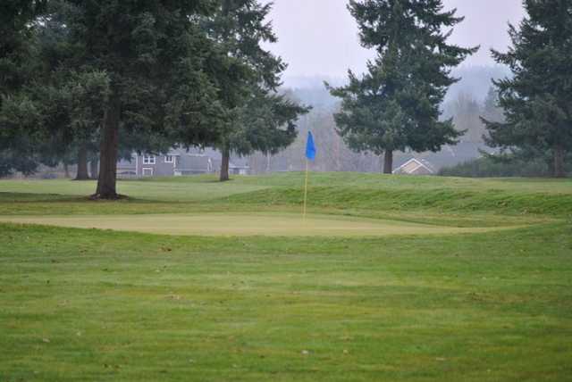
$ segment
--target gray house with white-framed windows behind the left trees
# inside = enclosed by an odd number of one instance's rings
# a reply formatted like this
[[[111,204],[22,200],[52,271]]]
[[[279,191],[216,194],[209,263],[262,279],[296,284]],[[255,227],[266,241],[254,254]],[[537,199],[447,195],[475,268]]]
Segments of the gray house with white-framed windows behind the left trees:
[[[220,170],[221,154],[213,149],[173,149],[167,154],[132,154],[117,163],[117,177],[181,177]],[[231,174],[248,175],[248,161],[231,159]]]

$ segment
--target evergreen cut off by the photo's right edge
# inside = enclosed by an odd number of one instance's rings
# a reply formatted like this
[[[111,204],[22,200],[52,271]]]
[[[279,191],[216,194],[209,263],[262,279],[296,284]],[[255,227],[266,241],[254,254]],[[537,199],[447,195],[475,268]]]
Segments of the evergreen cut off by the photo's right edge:
[[[509,51],[492,51],[513,77],[493,81],[506,121],[485,120],[489,141],[520,154],[550,153],[553,175],[564,177],[572,150],[572,4],[526,0],[525,8],[520,28],[509,25]]]

